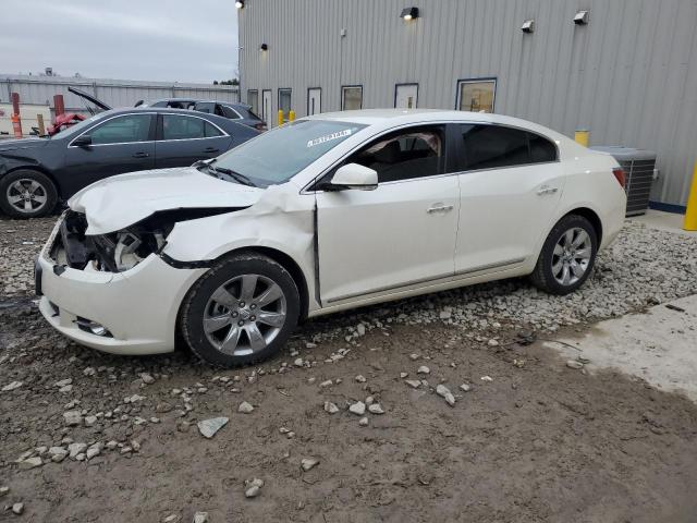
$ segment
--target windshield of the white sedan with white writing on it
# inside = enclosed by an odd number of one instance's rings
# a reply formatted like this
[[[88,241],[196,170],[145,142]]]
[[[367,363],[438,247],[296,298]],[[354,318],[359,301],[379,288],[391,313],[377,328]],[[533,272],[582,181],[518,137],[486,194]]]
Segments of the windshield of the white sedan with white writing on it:
[[[268,131],[213,160],[216,169],[240,173],[267,187],[288,182],[365,125],[298,120]]]

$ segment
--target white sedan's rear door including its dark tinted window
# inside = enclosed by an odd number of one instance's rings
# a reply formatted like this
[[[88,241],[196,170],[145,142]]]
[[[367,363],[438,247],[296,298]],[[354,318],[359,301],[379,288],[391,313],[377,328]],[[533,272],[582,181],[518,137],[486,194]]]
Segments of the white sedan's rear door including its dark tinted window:
[[[463,139],[468,162],[463,167],[472,170],[458,175],[455,273],[503,270],[536,257],[564,188],[557,147],[521,130],[462,129],[475,133]],[[527,136],[536,136],[536,143],[528,146]]]

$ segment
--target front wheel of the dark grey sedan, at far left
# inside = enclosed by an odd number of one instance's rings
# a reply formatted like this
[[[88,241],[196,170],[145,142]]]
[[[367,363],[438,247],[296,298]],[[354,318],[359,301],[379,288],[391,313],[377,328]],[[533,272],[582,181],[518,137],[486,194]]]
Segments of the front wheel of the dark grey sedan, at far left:
[[[0,179],[0,208],[13,218],[36,218],[53,210],[53,182],[37,171],[19,170]]]

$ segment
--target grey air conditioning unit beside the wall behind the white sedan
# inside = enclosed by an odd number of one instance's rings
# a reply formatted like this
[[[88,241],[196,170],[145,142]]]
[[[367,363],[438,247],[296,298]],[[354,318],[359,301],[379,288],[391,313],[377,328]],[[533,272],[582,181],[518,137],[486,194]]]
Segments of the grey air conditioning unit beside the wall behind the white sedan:
[[[624,170],[626,180],[624,190],[627,193],[626,216],[645,215],[656,178],[656,153],[617,146],[591,147],[591,149],[612,155]]]

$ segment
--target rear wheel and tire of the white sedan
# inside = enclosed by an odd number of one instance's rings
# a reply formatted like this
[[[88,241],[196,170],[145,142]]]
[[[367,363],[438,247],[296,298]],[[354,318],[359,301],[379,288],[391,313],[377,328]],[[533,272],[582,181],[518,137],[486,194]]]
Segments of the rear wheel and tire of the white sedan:
[[[597,252],[598,234],[590,221],[566,215],[547,236],[530,280],[550,294],[574,292],[590,276]]]

